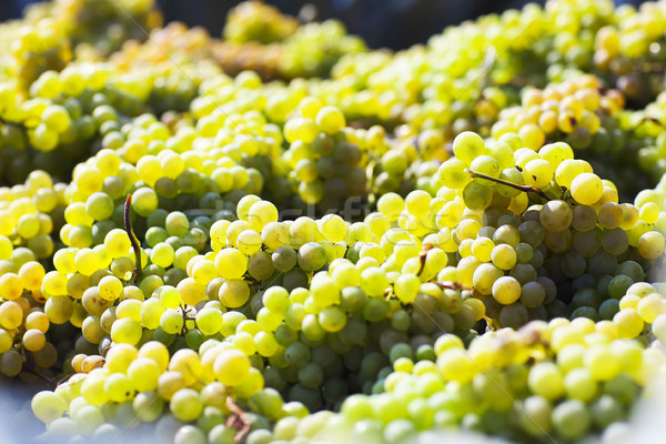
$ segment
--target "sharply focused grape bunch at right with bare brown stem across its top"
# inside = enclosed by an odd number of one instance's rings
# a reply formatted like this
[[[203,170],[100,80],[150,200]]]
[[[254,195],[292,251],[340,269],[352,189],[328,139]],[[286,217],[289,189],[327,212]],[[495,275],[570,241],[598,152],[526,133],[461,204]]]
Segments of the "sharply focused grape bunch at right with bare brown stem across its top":
[[[440,168],[444,185],[462,190],[465,203],[458,206],[456,224],[437,233],[455,240],[451,250],[457,253],[461,282],[493,296],[484,300],[486,314],[502,325],[517,327],[528,319],[549,317],[565,310],[569,297],[574,316],[612,317],[613,310],[601,315],[597,309],[614,276],[630,276],[630,284],[660,265],[650,262],[664,251],[664,235],[654,229],[657,209],[617,203],[613,183],[574,160],[565,143],[509,154],[506,142],[512,138],[486,147],[476,134],[462,133],[454,141],[455,158]],[[470,155],[473,152],[477,154]],[[516,167],[502,170],[501,152]],[[482,174],[472,179],[475,173]],[[454,203],[444,203],[443,219],[452,218]],[[467,210],[484,210],[484,218],[465,218]],[[629,255],[632,248],[637,256]],[[537,270],[547,274],[537,280]],[[594,285],[595,291],[581,291]]]

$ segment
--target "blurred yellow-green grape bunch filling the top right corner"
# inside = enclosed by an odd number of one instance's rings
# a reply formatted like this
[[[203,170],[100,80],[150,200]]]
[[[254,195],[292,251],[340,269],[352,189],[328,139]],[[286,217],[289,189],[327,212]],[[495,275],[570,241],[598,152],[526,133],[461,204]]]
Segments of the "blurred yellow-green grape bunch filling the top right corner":
[[[513,11],[506,16],[519,20]],[[553,1],[531,26],[537,30],[531,29],[507,46],[509,63],[501,60],[493,72],[500,82],[539,85],[544,80],[563,80],[571,70],[591,72],[637,107],[664,88],[663,2],[616,9],[612,1]]]

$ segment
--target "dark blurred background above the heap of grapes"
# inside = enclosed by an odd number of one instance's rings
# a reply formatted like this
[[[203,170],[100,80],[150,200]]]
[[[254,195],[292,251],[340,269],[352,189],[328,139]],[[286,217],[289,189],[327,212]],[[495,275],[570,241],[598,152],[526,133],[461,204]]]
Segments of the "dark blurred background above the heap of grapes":
[[[0,0],[0,20],[18,18],[22,9],[37,0]],[[114,0],[99,0],[114,1]],[[361,36],[371,48],[407,48],[478,16],[521,8],[527,0],[266,0],[281,11],[297,16],[305,4],[314,4],[316,20],[342,20],[350,33]],[[534,1],[533,1],[534,2]],[[544,0],[536,1],[544,3]],[[618,0],[616,3],[642,3],[643,0]],[[182,21],[203,26],[220,36],[230,8],[239,0],[158,0],[165,22]]]

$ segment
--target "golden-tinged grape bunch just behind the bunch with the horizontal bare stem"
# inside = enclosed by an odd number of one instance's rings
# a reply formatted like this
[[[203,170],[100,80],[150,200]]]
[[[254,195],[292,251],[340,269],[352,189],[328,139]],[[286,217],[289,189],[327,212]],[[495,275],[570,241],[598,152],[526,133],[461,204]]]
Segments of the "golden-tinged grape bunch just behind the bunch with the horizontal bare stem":
[[[517,132],[528,147],[565,140],[599,175],[620,184],[620,198],[629,201],[650,182],[635,174],[638,145],[625,122],[624,101],[617,90],[603,91],[598,78],[575,74],[544,90],[526,89],[522,105],[502,110],[492,133]]]

